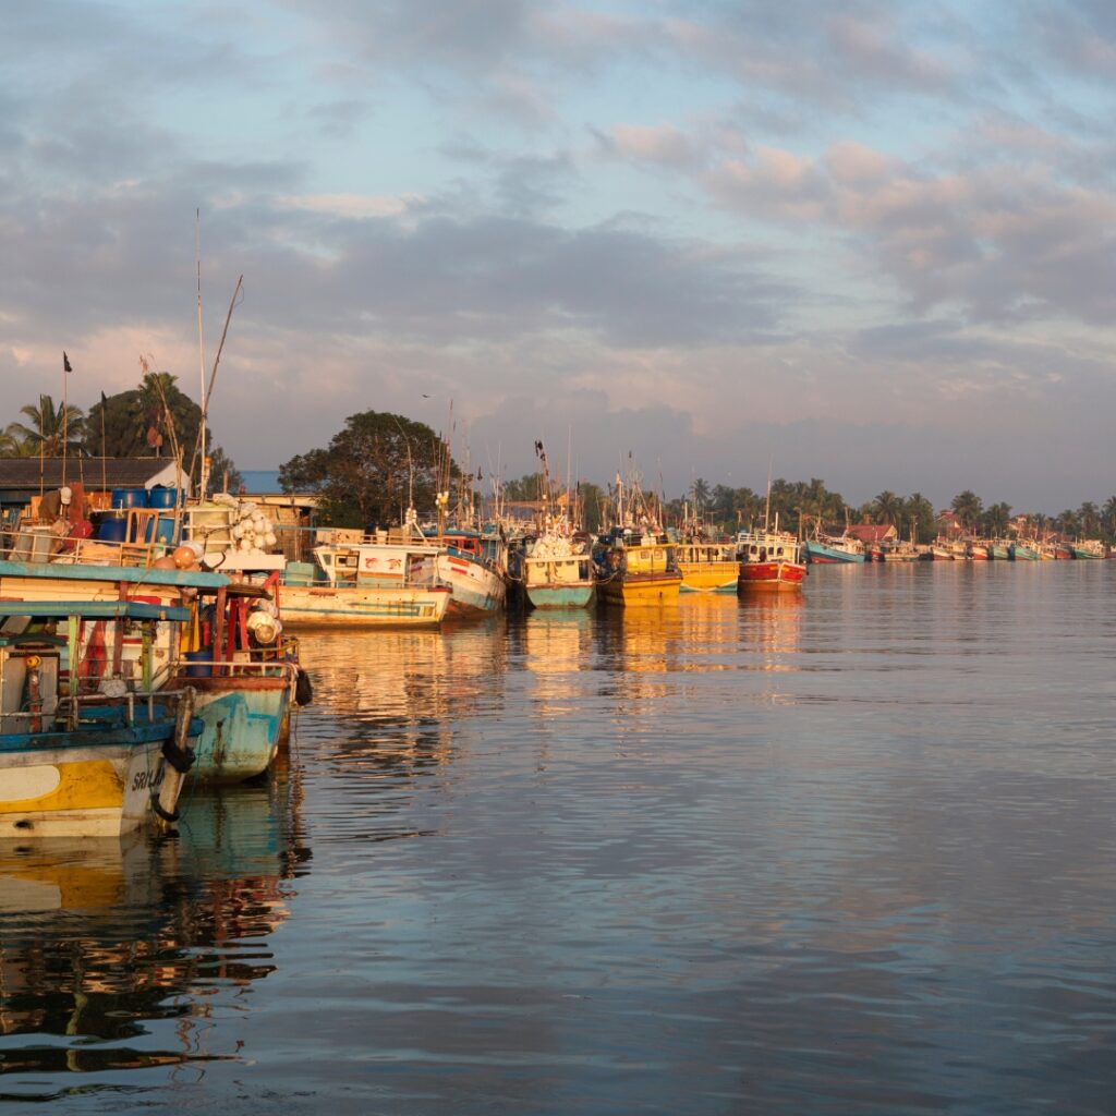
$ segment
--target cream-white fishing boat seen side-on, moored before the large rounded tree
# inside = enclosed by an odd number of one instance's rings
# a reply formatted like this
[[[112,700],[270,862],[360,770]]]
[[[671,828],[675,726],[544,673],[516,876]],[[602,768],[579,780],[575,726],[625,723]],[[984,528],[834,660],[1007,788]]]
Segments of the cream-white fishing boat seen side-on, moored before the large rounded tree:
[[[319,538],[323,532],[318,532]],[[451,590],[441,584],[440,548],[389,545],[355,532],[314,547],[312,562],[288,562],[278,586],[287,627],[437,627]],[[328,538],[328,536],[327,536]]]

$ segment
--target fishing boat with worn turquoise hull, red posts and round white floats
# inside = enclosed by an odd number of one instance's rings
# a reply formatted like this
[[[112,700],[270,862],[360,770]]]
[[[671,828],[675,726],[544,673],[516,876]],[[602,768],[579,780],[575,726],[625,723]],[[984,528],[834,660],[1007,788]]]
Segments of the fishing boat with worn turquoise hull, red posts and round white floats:
[[[263,585],[232,583],[199,594],[189,627],[190,650],[172,685],[196,691],[202,732],[194,745],[191,778],[240,782],[262,775],[282,743],[290,706],[300,696],[297,645]],[[305,694],[304,680],[301,696]],[[301,702],[305,704],[305,701]]]

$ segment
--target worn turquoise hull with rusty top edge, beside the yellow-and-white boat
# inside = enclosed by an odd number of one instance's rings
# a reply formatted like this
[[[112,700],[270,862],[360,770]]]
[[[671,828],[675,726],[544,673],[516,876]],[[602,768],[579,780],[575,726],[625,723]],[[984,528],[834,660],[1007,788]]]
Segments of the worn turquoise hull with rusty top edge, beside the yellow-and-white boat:
[[[180,682],[198,691],[194,715],[204,725],[193,745],[190,778],[241,782],[262,775],[275,759],[287,722],[287,679],[218,676]]]

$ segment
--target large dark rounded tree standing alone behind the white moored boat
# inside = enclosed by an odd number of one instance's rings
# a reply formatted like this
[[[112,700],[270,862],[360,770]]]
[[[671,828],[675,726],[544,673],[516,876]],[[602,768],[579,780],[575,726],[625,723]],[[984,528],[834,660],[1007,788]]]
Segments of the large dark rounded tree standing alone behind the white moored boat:
[[[285,492],[317,492],[321,518],[336,527],[401,522],[408,501],[420,516],[435,512],[445,454],[445,443],[425,423],[364,411],[349,415],[326,449],[285,462],[279,483]]]

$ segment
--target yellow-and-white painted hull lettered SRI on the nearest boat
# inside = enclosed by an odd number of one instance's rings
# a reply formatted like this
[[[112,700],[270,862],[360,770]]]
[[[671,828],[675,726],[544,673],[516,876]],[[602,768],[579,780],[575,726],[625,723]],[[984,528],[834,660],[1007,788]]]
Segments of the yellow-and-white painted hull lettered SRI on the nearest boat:
[[[171,721],[162,739],[0,753],[0,838],[116,837],[153,821],[173,732]]]

